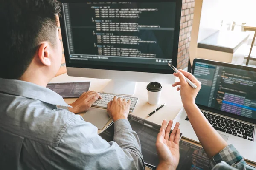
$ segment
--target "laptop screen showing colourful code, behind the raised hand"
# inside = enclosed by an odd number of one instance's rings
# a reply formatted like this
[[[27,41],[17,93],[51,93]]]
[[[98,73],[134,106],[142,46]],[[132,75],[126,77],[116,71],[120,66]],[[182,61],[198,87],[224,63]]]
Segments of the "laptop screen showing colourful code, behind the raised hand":
[[[202,84],[197,105],[256,119],[256,69],[195,59],[192,74]]]

